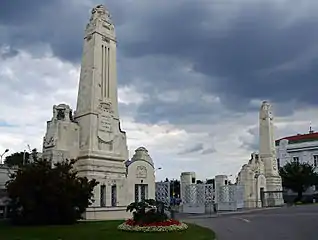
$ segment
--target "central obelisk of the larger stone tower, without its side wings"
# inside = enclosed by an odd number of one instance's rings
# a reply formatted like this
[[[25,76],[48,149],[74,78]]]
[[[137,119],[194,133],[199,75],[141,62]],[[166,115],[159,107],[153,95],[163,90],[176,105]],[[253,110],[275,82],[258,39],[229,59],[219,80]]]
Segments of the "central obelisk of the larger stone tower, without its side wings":
[[[118,116],[116,71],[115,28],[109,12],[98,5],[92,9],[85,30],[74,120],[81,129],[78,173],[100,182],[100,191],[97,187],[94,196],[104,200],[94,204],[104,207],[126,205],[128,150]],[[117,199],[110,200],[114,195]]]

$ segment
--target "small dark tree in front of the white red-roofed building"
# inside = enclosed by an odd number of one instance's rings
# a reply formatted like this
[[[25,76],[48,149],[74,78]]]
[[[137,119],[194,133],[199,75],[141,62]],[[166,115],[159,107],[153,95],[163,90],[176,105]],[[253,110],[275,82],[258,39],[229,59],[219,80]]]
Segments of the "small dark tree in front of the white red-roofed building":
[[[288,162],[279,169],[279,174],[282,177],[283,187],[297,193],[295,201],[301,201],[303,192],[317,181],[315,167],[309,163]]]

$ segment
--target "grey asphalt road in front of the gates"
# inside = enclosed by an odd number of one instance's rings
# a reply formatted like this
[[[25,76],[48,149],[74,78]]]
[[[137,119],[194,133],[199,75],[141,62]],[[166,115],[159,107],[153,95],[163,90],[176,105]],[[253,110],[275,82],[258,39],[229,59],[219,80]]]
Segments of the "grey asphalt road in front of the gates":
[[[218,240],[317,240],[318,205],[283,207],[185,221],[211,228]]]

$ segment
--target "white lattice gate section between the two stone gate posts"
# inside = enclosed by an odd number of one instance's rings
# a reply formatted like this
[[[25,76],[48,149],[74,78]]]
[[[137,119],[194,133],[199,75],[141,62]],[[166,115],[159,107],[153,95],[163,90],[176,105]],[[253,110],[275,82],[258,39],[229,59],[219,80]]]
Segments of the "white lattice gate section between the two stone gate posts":
[[[207,213],[213,211],[213,184],[185,184],[182,186],[184,213]]]

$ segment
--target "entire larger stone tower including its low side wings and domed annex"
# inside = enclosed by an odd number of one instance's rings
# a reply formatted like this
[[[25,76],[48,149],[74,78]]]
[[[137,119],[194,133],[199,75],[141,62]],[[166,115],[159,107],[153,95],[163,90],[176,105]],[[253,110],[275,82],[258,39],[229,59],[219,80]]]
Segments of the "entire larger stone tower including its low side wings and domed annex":
[[[148,151],[138,148],[127,164],[116,75],[115,28],[109,12],[98,5],[85,30],[77,109],[73,114],[66,104],[54,105],[43,138],[43,158],[52,163],[76,159],[78,175],[99,182],[85,219],[131,218],[126,212],[129,203],[155,196],[154,164]]]

